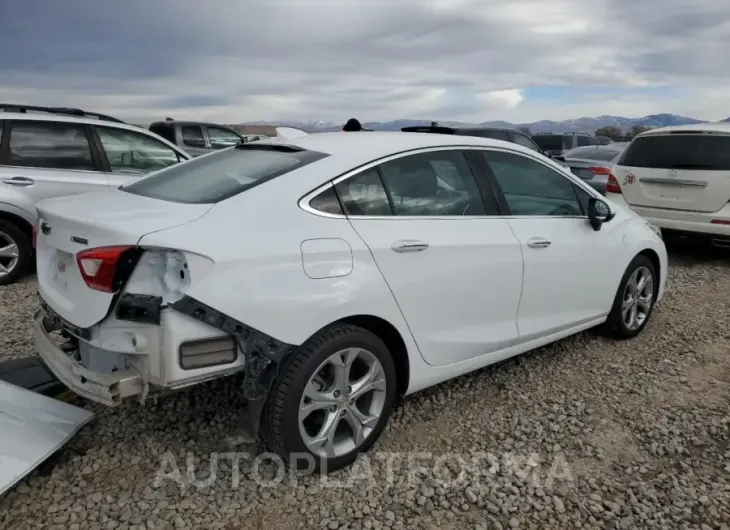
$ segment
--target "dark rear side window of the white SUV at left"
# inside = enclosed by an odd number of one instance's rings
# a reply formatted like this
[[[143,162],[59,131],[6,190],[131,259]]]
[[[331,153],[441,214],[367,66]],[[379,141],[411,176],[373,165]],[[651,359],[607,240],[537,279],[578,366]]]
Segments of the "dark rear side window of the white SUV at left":
[[[94,169],[85,129],[72,123],[16,122],[9,148],[11,166]]]

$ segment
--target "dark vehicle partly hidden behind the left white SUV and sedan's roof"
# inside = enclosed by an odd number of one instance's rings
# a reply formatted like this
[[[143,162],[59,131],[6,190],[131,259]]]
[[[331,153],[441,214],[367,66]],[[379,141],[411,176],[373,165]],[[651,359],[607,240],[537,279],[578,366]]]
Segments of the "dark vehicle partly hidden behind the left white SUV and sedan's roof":
[[[185,149],[192,156],[204,155],[246,141],[241,134],[224,125],[171,118],[154,122],[150,125],[150,131]]]

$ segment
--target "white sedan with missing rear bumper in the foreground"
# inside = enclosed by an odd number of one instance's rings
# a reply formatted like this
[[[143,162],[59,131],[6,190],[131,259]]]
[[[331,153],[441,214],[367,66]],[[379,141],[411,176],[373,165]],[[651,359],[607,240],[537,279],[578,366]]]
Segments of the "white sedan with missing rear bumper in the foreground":
[[[34,335],[62,382],[116,406],[243,372],[244,432],[325,471],[399,396],[594,326],[636,336],[667,275],[645,220],[478,137],[261,140],[38,209]]]

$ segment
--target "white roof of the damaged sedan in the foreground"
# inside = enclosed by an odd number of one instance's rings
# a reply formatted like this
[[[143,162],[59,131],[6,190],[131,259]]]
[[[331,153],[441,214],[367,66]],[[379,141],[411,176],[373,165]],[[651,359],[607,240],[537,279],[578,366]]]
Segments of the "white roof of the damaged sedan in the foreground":
[[[286,144],[327,153],[333,157],[348,159],[353,162],[353,167],[389,155],[428,147],[500,147],[529,155],[535,154],[527,147],[492,138],[400,131],[315,133],[289,140],[282,138],[260,140],[258,143]]]

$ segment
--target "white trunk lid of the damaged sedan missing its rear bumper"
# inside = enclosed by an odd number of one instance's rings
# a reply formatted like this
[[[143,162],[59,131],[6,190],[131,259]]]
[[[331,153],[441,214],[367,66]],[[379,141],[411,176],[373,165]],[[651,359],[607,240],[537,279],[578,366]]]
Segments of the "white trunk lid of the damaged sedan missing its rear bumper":
[[[211,207],[121,190],[41,201],[36,243],[41,298],[71,324],[93,326],[106,316],[114,293],[91,289],[81,275],[76,255],[92,248],[136,245],[143,236],[194,221]]]

